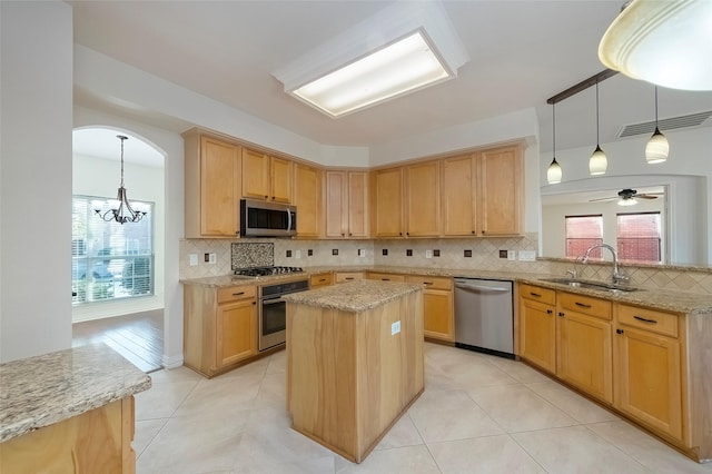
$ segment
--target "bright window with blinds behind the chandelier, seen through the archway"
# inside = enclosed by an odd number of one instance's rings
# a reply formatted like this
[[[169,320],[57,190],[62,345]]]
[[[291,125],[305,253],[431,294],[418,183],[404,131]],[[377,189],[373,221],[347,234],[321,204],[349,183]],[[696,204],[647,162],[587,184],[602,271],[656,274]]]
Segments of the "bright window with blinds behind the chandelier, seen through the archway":
[[[138,223],[107,223],[93,211],[93,201],[72,197],[72,304],[132,298],[154,294],[152,203],[141,203],[147,215]],[[134,201],[131,201],[134,203]]]

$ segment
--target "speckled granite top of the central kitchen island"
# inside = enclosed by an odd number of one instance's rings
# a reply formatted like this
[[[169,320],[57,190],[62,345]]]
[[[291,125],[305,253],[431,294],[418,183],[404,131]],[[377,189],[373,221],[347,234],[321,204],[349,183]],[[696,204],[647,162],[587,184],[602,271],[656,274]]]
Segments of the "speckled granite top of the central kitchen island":
[[[287,303],[363,313],[422,289],[422,285],[411,283],[359,280],[291,293],[283,296],[283,299]]]

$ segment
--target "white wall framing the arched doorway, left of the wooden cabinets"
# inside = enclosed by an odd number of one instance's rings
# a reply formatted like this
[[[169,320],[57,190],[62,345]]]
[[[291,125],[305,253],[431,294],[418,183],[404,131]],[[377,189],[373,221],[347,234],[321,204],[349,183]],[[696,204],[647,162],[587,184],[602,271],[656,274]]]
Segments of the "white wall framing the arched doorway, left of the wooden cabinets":
[[[182,364],[182,287],[179,283],[179,241],[184,235],[184,142],[180,135],[148,126],[138,121],[106,112],[75,108],[75,127],[108,127],[131,132],[150,144],[166,159],[164,162],[164,365],[176,367]],[[131,178],[134,179],[134,178]],[[132,181],[125,179],[129,196],[135,196]],[[116,184],[113,185],[116,187]],[[138,192],[138,190],[137,190]],[[136,195],[138,199],[139,196]],[[157,245],[160,245],[157,241]],[[157,269],[161,265],[157,261]]]

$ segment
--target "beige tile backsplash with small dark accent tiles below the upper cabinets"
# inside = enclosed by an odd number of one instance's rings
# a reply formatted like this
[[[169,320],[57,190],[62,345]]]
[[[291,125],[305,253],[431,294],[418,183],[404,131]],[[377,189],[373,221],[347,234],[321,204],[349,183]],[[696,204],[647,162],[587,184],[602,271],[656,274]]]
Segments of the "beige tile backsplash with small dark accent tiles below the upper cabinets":
[[[235,250],[237,248],[237,250]],[[562,259],[521,259],[536,256],[538,234],[517,238],[463,239],[392,239],[392,240],[293,240],[293,239],[184,239],[180,241],[180,278],[228,275],[234,268],[266,265],[290,267],[318,266],[405,266],[454,269],[504,270],[565,276],[573,263]],[[271,249],[271,255],[270,255]],[[408,251],[409,250],[409,251]],[[216,263],[205,254],[216,254]],[[524,253],[524,254],[522,254]],[[198,265],[189,265],[189,255],[198,256]],[[408,255],[411,254],[411,255]],[[527,255],[528,254],[528,255]],[[437,256],[439,255],[439,256]],[[609,280],[610,263],[578,264],[583,278]],[[635,266],[623,264],[632,286],[673,292],[712,294],[712,270]]]

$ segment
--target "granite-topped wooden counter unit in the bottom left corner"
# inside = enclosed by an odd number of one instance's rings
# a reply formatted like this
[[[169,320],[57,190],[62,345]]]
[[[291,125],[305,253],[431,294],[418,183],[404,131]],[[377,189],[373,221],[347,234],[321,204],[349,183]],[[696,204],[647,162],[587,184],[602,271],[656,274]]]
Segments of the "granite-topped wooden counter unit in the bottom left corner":
[[[134,395],[150,386],[105,344],[0,364],[0,472],[135,473]]]

